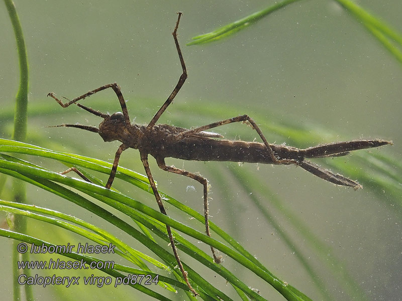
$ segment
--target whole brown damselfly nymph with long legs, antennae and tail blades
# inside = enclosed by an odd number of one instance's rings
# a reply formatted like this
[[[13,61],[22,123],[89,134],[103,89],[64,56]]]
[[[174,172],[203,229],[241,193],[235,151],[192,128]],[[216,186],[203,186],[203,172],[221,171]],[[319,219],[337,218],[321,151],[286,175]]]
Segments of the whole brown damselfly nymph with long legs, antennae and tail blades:
[[[180,46],[177,41],[177,28],[180,22],[181,13],[178,13],[178,19],[173,31],[174,43],[176,45],[177,53],[179,56],[182,74],[175,88],[165,103],[156,112],[154,117],[147,125],[134,124],[130,122],[129,113],[126,107],[126,101],[121,93],[118,84],[108,84],[99,87],[95,90],[89,91],[71,101],[62,103],[53,93],[48,96],[54,98],[62,107],[68,107],[70,104],[75,103],[79,107],[87,110],[88,112],[104,118],[98,127],[80,125],[80,124],[62,124],[57,126],[77,127],[93,132],[97,132],[105,141],[118,140],[122,142],[119,146],[115,160],[113,163],[112,171],[106,188],[111,188],[113,180],[116,175],[116,170],[119,164],[120,155],[128,148],[136,148],[140,152],[141,161],[145,168],[145,173],[149,179],[150,186],[155,195],[159,209],[163,214],[166,214],[158,190],[155,186],[151,171],[148,165],[148,155],[156,159],[156,162],[162,170],[167,172],[180,174],[191,179],[198,181],[204,188],[204,216],[207,235],[211,236],[208,222],[208,181],[207,179],[175,168],[165,164],[165,158],[177,158],[182,160],[194,161],[232,161],[232,162],[248,162],[248,163],[263,163],[275,165],[296,165],[300,166],[308,172],[337,185],[349,186],[355,189],[361,188],[361,185],[345,178],[339,174],[334,174],[329,170],[323,169],[309,161],[306,158],[323,158],[323,157],[338,157],[345,156],[352,150],[377,147],[385,144],[392,144],[390,141],[373,139],[373,140],[353,140],[347,142],[334,142],[306,149],[299,149],[285,145],[270,144],[265,139],[265,136],[259,129],[255,121],[248,115],[241,115],[222,121],[217,121],[204,126],[196,127],[193,129],[184,129],[168,124],[156,124],[159,117],[166,110],[168,105],[173,101],[174,97],[180,90],[181,86],[187,78],[186,66],[181,54]],[[120,102],[122,112],[117,112],[112,115],[105,114],[94,109],[83,106],[77,103],[78,100],[84,99],[99,91],[112,88]],[[247,142],[247,141],[232,141],[225,140],[220,134],[207,132],[205,130],[221,126],[233,122],[247,122],[253,129],[255,129],[262,139],[260,142]],[[166,225],[167,233],[171,242],[173,253],[176,257],[178,267],[181,270],[184,280],[186,281],[189,289],[195,295],[196,291],[191,287],[187,273],[184,271],[174,245],[173,237],[170,227]],[[211,247],[212,254],[215,262],[220,262],[220,257],[215,254],[215,250]]]

